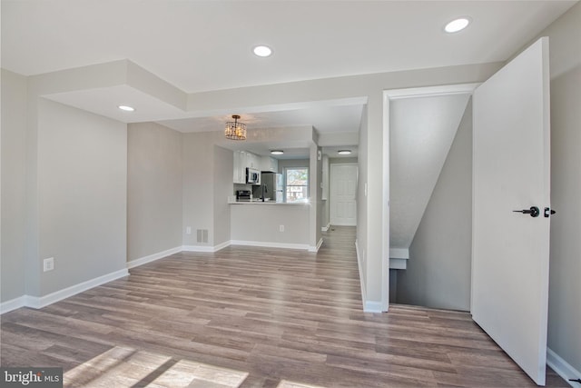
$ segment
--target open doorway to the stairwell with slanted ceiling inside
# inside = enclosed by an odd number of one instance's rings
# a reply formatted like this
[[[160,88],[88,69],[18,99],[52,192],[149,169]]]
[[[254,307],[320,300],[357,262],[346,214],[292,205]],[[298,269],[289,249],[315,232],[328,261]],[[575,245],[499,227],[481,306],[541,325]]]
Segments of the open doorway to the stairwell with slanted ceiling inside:
[[[413,257],[390,270],[390,298],[469,311],[470,93],[394,98],[389,111],[390,258]]]

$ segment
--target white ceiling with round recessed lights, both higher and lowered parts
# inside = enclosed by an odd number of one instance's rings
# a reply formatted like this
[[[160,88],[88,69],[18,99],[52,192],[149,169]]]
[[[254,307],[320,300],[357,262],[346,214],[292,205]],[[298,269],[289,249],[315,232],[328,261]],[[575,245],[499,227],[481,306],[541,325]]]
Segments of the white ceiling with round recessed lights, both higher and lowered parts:
[[[505,61],[576,1],[182,1],[2,0],[2,67],[40,75],[129,60],[182,91],[448,65]],[[468,15],[460,33],[443,33]],[[270,45],[259,58],[253,45]],[[115,90],[113,90],[115,89]],[[140,99],[118,112],[107,96]],[[222,130],[227,114],[192,114],[135,88],[87,89],[49,98],[124,122],[156,121],[182,132]],[[310,124],[356,134],[364,102],[241,114],[257,128]],[[352,138],[352,136],[351,136]],[[325,144],[332,146],[355,145]]]

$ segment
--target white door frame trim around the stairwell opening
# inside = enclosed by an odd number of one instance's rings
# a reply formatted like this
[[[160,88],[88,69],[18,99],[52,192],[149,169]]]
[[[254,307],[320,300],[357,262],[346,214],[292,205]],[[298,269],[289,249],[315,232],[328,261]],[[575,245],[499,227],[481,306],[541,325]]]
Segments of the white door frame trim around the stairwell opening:
[[[438,95],[472,95],[482,83],[438,85],[383,91],[383,204],[381,244],[381,311],[389,311],[389,104],[392,100]]]

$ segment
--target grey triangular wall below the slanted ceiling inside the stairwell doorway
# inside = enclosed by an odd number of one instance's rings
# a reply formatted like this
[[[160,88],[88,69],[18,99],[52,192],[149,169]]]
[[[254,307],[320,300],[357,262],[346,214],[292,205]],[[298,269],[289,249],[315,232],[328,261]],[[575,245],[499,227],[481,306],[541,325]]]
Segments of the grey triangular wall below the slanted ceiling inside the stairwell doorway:
[[[472,104],[458,125],[419,227],[406,270],[397,273],[397,303],[470,309],[472,239]]]

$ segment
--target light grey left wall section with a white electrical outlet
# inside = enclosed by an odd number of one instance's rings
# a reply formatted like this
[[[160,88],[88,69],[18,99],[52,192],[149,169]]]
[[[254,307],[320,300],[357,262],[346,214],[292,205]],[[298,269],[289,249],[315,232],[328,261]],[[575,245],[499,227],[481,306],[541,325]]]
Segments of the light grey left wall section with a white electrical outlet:
[[[127,131],[103,116],[38,101],[39,295],[126,268]],[[42,272],[54,257],[54,271]]]

